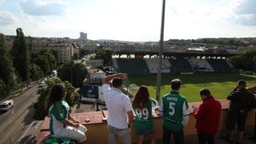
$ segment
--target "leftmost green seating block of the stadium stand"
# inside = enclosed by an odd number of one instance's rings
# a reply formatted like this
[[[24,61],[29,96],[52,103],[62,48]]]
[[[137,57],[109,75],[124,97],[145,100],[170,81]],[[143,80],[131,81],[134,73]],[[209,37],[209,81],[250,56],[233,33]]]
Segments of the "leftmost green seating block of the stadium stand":
[[[129,75],[150,74],[144,59],[142,58],[115,58],[118,72]]]

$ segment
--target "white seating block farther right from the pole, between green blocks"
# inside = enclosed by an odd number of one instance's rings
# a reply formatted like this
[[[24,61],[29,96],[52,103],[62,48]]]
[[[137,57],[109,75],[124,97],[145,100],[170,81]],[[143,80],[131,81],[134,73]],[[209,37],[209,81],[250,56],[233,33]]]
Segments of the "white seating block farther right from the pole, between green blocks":
[[[206,59],[189,58],[188,61],[197,72],[214,72]]]

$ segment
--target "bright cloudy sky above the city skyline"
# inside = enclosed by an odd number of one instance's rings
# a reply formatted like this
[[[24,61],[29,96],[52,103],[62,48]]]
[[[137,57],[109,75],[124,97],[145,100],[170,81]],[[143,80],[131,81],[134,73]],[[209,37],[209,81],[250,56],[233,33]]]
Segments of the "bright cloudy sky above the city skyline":
[[[0,33],[159,41],[163,0],[0,0]],[[256,0],[165,0],[164,39],[256,37]]]

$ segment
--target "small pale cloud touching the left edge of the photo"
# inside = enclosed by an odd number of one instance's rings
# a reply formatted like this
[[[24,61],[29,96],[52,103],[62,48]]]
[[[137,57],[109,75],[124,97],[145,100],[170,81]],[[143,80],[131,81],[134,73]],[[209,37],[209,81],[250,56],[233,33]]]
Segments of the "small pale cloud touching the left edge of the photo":
[[[7,25],[14,25],[17,22],[17,18],[10,12],[7,11],[0,11],[0,25],[7,26]]]

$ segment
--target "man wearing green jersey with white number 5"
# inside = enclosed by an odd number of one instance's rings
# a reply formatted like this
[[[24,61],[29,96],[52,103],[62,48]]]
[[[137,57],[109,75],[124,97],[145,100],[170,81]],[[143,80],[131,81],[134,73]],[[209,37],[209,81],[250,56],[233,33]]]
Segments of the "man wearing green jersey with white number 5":
[[[183,127],[188,122],[187,99],[179,95],[181,80],[171,81],[172,91],[161,98],[158,115],[163,116],[163,143],[169,144],[174,135],[176,144],[184,144]]]

